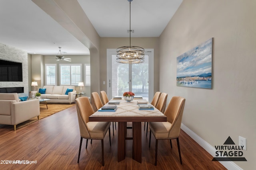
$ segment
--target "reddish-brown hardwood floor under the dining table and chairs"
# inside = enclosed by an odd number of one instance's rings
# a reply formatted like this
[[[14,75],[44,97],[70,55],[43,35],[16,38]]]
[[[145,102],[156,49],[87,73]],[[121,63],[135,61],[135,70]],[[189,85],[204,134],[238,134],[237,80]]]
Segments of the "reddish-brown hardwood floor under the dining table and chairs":
[[[143,122],[144,124],[144,122]],[[144,125],[142,125],[144,126]],[[112,125],[111,125],[112,127]],[[132,159],[132,140],[126,141],[126,158],[117,162],[117,130],[111,147],[108,133],[104,139],[104,161],[101,160],[101,142],[93,140],[92,145],[83,140],[80,162],[77,163],[80,133],[76,106],[40,119],[30,125],[13,131],[13,126],[0,126],[0,163],[4,160],[36,161],[36,164],[0,164],[1,170],[225,170],[219,162],[212,162],[212,156],[193,141],[184,131],[180,132],[180,165],[176,140],[172,149],[168,140],[158,142],[158,162],[155,160],[155,139],[152,135],[149,148],[149,135],[142,128],[142,163]],[[127,129],[128,137],[132,129]]]

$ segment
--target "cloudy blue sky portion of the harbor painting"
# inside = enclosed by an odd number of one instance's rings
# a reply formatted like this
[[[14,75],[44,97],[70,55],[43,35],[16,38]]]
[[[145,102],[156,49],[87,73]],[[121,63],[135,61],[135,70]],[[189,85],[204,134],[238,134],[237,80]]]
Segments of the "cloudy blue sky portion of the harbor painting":
[[[212,72],[212,38],[177,57],[177,77]]]

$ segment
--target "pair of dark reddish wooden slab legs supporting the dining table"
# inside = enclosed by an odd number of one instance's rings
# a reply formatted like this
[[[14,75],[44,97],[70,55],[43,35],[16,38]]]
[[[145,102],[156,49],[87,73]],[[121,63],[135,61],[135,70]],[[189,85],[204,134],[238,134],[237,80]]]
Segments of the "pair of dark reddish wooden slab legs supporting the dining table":
[[[118,122],[118,162],[124,160],[126,155],[126,126],[127,122]],[[141,163],[141,122],[132,122],[132,140],[132,158]]]

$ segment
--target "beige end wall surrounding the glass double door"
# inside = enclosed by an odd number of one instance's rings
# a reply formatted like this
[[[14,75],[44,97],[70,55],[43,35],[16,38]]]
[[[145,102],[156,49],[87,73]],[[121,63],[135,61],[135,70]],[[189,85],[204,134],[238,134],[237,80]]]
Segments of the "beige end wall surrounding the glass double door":
[[[100,38],[100,90],[107,90],[107,49],[130,45],[130,38]],[[159,89],[159,38],[141,37],[131,38],[132,46],[139,46],[144,49],[154,49],[154,92]]]

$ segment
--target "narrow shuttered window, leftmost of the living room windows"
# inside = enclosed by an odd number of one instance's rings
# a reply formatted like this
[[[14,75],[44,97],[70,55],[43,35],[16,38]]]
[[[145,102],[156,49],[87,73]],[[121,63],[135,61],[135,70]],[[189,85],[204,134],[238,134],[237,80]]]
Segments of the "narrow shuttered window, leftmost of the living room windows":
[[[46,80],[45,80],[45,84],[46,85],[53,85],[53,86],[56,86],[56,64],[45,64],[45,77],[46,77]]]

